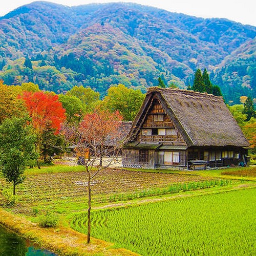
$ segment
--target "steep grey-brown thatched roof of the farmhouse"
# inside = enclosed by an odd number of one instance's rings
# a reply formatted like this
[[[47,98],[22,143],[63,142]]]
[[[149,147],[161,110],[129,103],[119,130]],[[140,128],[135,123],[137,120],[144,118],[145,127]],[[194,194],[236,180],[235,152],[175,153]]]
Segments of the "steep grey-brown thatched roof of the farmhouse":
[[[188,146],[248,146],[222,97],[180,89],[150,88],[127,141],[138,134],[143,115],[156,97],[175,122]]]

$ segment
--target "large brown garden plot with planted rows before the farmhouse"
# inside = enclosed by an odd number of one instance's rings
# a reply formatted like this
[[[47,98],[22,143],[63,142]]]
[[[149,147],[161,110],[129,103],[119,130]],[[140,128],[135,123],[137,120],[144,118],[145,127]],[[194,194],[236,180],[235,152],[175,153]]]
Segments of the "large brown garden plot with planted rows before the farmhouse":
[[[160,174],[132,172],[121,169],[107,169],[100,172],[92,182],[92,197],[96,202],[108,201],[110,196],[134,193],[151,188],[163,188],[174,183],[207,180],[195,175]],[[1,179],[4,187],[10,186]],[[17,187],[19,211],[34,205],[62,205],[86,203],[87,174],[65,172],[27,175],[23,184]],[[125,199],[125,198],[124,198]]]

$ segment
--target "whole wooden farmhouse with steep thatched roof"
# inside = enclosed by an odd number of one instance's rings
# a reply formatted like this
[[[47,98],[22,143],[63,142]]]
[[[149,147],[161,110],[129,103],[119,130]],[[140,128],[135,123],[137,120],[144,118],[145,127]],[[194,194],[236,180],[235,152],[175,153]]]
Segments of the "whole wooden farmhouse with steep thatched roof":
[[[187,169],[238,165],[241,161],[246,163],[246,147],[249,144],[241,130],[238,129],[238,125],[232,122],[233,118],[226,106],[223,107],[223,100],[220,97],[210,95],[209,102],[207,102],[207,100],[205,101],[206,94],[172,90],[157,88],[151,89],[147,93],[141,110],[136,116],[124,143],[122,150],[122,164],[124,167]],[[174,95],[172,95],[172,92],[174,92]],[[178,96],[182,95],[182,97],[186,95],[185,100],[187,101],[182,102],[182,99],[180,99],[179,104],[175,103],[174,101],[177,101],[178,97],[177,93]],[[166,97],[168,98],[166,99]],[[172,99],[172,97],[174,98]],[[200,103],[202,97],[204,101]],[[212,105],[212,102],[215,101],[218,103]],[[199,103],[202,108],[205,103],[207,105],[203,123],[201,120],[202,109]],[[222,121],[218,121],[216,117],[212,120],[214,113],[211,112],[214,112],[215,108],[219,108],[220,103],[221,111],[225,114],[225,120],[230,119],[230,131],[232,129],[236,130],[233,133],[240,136],[241,143],[229,139],[226,135],[227,130],[225,132],[220,131],[220,134],[216,132]],[[209,111],[210,104],[212,108]],[[190,108],[193,115],[184,116],[185,114],[189,115],[190,112],[185,109],[182,111],[182,108]],[[195,115],[199,111],[201,116]],[[184,115],[182,115],[183,112]],[[186,118],[194,118],[194,121],[188,122]],[[201,119],[199,120],[199,118]],[[211,125],[216,129],[212,131],[212,127],[209,129],[206,127],[208,130],[203,131],[203,126],[197,126],[197,123],[200,125],[200,122],[201,125],[205,123],[205,126],[208,125],[207,122],[215,122],[215,125]],[[231,127],[232,125],[237,126]],[[209,136],[209,138],[202,139],[200,137],[202,134]],[[225,139],[227,143],[225,140],[221,141],[220,138],[224,137],[228,137]],[[210,144],[211,141],[212,144]],[[232,141],[234,143],[231,143]]]

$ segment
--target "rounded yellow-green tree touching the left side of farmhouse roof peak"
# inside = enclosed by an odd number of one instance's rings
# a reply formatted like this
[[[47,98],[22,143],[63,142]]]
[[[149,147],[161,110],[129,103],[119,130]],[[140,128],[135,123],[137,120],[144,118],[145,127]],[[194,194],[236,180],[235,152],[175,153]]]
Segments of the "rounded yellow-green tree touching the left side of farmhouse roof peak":
[[[124,121],[132,121],[138,113],[145,95],[140,90],[126,88],[123,84],[113,86],[103,100],[103,105],[111,112],[118,111]]]

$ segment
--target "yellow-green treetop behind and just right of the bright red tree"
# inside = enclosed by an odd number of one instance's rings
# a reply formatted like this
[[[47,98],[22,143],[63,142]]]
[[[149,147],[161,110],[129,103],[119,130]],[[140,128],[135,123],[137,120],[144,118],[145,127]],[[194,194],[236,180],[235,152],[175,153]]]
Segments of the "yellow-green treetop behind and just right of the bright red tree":
[[[67,92],[67,96],[76,96],[81,100],[84,105],[86,113],[93,112],[96,106],[99,104],[98,92],[94,92],[91,88],[84,88],[83,86],[74,86],[70,91]]]

